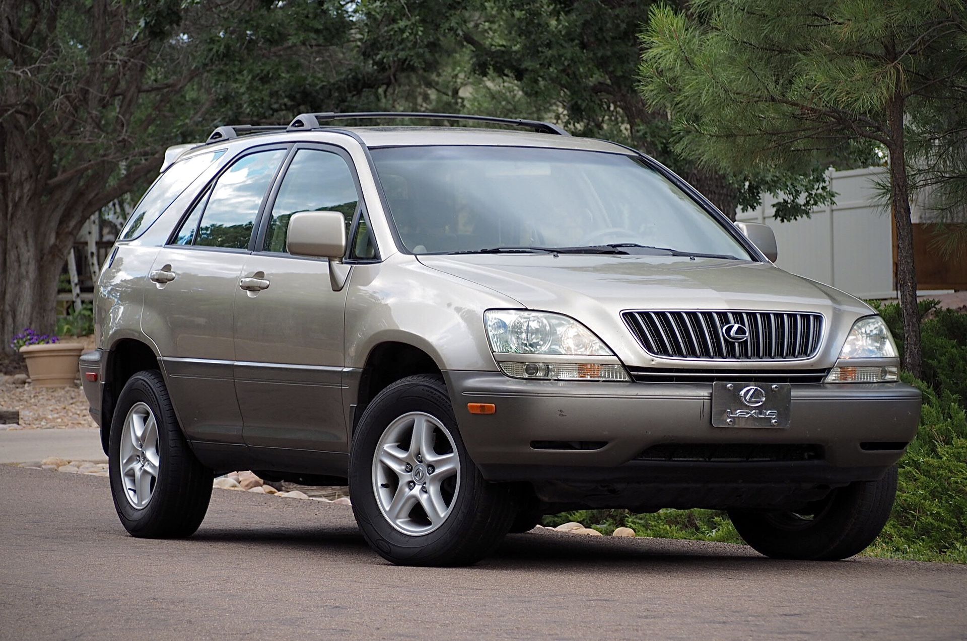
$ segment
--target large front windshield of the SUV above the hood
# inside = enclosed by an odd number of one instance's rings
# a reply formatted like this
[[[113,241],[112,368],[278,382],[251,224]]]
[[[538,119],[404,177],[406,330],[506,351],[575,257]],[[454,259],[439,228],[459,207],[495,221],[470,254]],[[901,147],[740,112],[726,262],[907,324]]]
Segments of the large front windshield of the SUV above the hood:
[[[750,260],[707,211],[630,155],[433,146],[374,149],[372,159],[414,254],[562,249]]]

